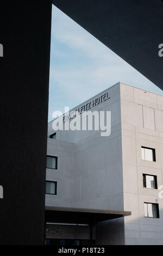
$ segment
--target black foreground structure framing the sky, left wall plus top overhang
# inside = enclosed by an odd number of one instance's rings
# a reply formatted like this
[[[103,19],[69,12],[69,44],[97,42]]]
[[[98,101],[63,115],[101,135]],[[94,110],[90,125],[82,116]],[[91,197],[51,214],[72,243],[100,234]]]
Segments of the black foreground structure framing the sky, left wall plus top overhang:
[[[162,88],[163,3],[56,0],[58,8]],[[52,1],[1,1],[0,243],[43,244]]]

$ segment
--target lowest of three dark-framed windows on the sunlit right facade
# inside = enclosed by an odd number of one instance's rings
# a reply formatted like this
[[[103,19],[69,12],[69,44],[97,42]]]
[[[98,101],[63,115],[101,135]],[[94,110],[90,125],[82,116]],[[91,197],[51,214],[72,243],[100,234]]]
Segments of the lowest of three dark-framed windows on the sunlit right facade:
[[[145,217],[159,218],[159,204],[144,203]]]

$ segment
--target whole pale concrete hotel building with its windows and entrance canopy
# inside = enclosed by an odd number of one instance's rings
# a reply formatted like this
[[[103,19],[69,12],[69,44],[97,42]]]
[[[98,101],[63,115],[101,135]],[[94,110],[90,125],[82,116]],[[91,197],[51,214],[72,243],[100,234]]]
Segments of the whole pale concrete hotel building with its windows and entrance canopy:
[[[118,82],[76,109],[111,133],[48,124],[47,244],[163,245],[163,96]]]

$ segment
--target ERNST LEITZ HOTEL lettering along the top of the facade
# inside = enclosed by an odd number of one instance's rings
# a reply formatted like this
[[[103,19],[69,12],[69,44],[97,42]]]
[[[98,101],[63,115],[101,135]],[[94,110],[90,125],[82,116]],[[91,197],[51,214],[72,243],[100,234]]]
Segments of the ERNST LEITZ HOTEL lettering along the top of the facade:
[[[102,103],[106,100],[109,100],[109,99],[110,99],[110,96],[109,96],[108,92],[95,97],[95,99],[86,102],[84,105],[80,106],[79,108],[74,109],[69,114],[64,115],[63,123],[65,123],[65,121],[67,121],[68,119],[72,119],[72,118],[76,117],[76,112],[78,112],[79,114],[82,114],[84,111],[87,111],[87,110],[89,110],[89,109],[99,105],[100,103]]]

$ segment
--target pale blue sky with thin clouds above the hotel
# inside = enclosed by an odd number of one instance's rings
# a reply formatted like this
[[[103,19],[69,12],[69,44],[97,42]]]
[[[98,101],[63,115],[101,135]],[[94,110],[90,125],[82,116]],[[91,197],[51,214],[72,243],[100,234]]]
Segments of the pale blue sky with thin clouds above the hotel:
[[[54,111],[72,109],[119,81],[163,94],[53,5],[48,120]]]

